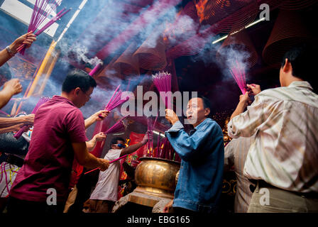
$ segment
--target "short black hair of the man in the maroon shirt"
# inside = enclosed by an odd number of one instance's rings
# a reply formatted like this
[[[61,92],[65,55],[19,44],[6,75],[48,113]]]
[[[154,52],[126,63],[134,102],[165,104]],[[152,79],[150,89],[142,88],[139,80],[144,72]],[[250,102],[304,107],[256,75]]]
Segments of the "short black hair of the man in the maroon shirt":
[[[97,84],[93,77],[89,76],[89,74],[83,70],[76,69],[67,74],[62,84],[62,92],[69,93],[77,87],[79,87],[82,92],[87,92],[89,87],[96,86]]]

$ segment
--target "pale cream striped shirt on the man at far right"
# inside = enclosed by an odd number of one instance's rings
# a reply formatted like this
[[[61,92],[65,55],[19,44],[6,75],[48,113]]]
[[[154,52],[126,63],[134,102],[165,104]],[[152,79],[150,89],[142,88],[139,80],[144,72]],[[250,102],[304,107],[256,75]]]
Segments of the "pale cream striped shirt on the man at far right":
[[[318,95],[308,82],[267,89],[228,124],[232,138],[250,137],[244,175],[293,192],[318,192]]]

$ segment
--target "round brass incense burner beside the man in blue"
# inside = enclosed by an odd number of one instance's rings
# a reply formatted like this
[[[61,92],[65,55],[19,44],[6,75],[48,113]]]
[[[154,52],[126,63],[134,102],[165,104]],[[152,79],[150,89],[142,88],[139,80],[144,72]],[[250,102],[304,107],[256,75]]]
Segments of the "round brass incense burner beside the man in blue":
[[[161,199],[173,199],[176,175],[180,162],[158,157],[141,157],[135,172],[138,185],[129,201],[144,206],[154,206]]]

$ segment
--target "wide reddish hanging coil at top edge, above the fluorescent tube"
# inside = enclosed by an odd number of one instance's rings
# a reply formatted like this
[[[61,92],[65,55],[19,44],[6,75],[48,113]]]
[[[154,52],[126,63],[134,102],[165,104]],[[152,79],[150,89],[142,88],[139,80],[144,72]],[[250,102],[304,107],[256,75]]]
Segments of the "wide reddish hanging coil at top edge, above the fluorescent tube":
[[[203,6],[197,3],[200,21],[211,25],[218,23],[218,30],[222,33],[243,28],[255,21],[258,8],[258,1],[255,0],[207,1]]]

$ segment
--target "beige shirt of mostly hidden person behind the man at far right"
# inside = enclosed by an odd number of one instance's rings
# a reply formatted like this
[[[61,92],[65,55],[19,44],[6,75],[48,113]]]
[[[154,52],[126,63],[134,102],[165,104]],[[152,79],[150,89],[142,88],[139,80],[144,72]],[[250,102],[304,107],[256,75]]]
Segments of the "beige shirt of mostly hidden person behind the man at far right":
[[[227,170],[234,167],[236,175],[235,213],[246,213],[251,202],[252,192],[250,185],[252,183],[243,175],[243,170],[248,149],[253,141],[253,137],[233,139],[226,145],[224,150],[224,169]]]

